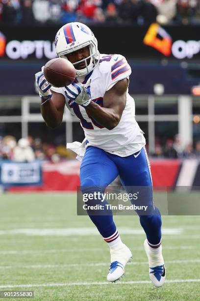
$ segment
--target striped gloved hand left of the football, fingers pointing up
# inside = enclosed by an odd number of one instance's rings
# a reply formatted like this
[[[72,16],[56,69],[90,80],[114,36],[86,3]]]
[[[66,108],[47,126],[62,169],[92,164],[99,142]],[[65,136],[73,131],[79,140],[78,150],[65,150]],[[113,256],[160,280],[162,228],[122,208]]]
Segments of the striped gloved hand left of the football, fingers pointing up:
[[[52,93],[50,91],[51,85],[46,80],[43,68],[42,71],[35,74],[35,81],[36,81],[36,88],[39,92],[40,97],[48,99],[52,96]]]

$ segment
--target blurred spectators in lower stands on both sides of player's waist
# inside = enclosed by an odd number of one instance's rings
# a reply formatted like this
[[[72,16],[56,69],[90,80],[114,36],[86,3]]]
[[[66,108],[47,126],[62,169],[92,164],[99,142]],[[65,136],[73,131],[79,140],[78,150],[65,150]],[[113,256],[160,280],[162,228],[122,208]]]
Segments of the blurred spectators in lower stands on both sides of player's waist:
[[[200,141],[197,141],[194,147],[192,144],[188,144],[183,149],[177,134],[174,140],[168,139],[163,147],[157,142],[155,144],[155,153],[151,154],[151,157],[171,159],[200,158]],[[14,136],[10,135],[0,137],[0,160],[31,162],[38,159],[57,163],[72,158],[75,158],[75,153],[67,150],[65,146],[43,143],[40,138],[34,139],[32,136],[28,136],[17,141]]]

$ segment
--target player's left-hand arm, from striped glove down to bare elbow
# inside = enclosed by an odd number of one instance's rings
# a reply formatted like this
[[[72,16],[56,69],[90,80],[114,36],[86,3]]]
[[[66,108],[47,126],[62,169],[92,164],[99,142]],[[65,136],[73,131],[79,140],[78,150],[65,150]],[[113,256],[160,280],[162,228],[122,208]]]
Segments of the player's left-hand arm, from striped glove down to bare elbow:
[[[43,71],[35,74],[36,87],[41,97],[41,114],[47,126],[51,128],[61,124],[65,108],[65,97],[50,90],[51,85],[44,77]]]

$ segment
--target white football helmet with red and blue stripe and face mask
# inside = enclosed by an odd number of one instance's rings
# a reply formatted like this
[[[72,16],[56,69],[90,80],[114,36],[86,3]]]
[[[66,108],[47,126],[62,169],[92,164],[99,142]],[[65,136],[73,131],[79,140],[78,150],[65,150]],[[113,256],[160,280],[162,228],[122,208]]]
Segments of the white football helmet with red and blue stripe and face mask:
[[[89,46],[90,56],[78,61],[78,63],[84,62],[86,67],[81,70],[76,69],[76,76],[87,75],[98,65],[100,53],[97,47],[97,39],[89,27],[79,22],[68,23],[56,33],[55,48],[59,58],[68,60],[66,55],[86,46]],[[89,64],[87,64],[88,59],[90,59]]]

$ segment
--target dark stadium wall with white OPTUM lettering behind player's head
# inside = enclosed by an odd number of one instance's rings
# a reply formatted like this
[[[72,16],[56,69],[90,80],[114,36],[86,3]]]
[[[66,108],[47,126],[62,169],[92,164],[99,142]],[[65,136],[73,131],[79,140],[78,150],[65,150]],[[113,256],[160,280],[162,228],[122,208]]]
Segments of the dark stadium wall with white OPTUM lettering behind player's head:
[[[159,83],[165,94],[190,94],[199,85],[199,25],[90,27],[100,53],[122,54],[131,65],[130,93],[153,94]],[[0,27],[0,95],[36,93],[34,74],[56,57],[54,39],[59,28]]]

